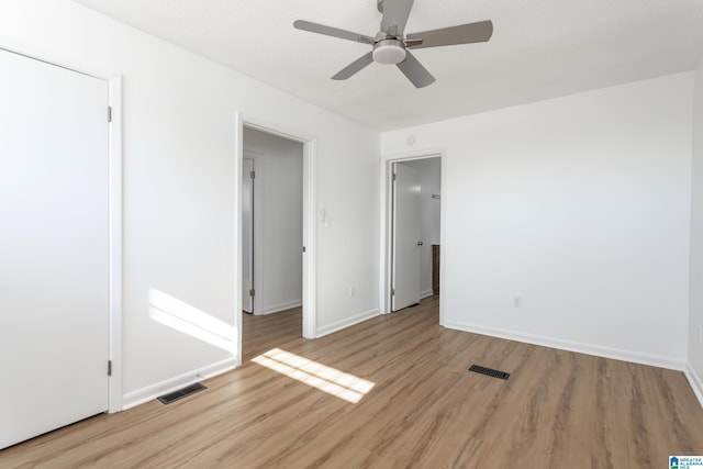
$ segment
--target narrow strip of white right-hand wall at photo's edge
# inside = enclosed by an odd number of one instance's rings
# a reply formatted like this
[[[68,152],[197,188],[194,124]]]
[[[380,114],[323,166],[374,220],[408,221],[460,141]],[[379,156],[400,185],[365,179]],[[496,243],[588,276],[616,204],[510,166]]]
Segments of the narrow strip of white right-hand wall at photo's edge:
[[[695,70],[693,177],[691,197],[691,303],[689,379],[703,404],[703,60]]]

